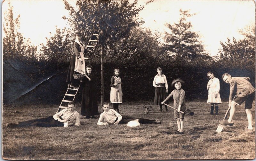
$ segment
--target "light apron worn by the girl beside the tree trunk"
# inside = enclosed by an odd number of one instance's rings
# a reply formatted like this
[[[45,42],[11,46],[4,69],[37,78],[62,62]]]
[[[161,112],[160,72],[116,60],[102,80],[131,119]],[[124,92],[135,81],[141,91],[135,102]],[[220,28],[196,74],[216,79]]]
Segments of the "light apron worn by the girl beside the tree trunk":
[[[115,78],[115,83],[121,83],[121,78]],[[110,88],[110,101],[111,103],[123,103],[123,93],[121,84],[117,84],[116,87]]]

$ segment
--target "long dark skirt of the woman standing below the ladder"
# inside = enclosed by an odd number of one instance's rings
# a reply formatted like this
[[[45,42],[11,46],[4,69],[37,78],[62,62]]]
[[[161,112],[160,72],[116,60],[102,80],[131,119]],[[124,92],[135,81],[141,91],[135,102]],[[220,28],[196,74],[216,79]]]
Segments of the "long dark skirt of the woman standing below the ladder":
[[[98,102],[94,85],[85,85],[83,88],[81,115],[99,115]]]

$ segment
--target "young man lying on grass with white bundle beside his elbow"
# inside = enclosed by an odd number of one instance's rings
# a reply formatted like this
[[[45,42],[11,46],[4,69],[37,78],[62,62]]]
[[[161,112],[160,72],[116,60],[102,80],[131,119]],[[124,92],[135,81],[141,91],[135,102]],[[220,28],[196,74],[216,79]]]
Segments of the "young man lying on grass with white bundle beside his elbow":
[[[108,102],[102,103],[102,109],[103,109],[103,112],[100,114],[100,118],[97,125],[104,125],[104,126],[111,125],[111,124],[118,125],[118,123],[124,124],[130,121],[137,121],[141,124],[151,124],[151,123],[160,124],[161,123],[159,119],[149,120],[149,119],[136,118],[136,117],[130,117],[125,115],[121,116],[114,109],[109,109]]]

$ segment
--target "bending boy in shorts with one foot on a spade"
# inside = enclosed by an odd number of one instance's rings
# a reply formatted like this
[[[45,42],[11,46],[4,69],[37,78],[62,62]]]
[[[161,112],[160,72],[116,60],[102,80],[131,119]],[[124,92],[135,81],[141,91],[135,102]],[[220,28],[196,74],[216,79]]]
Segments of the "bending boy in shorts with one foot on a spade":
[[[234,125],[233,117],[236,111],[236,105],[241,105],[245,101],[244,108],[245,108],[245,112],[248,120],[247,129],[252,130],[251,109],[252,109],[252,102],[255,98],[255,88],[249,82],[250,78],[249,77],[231,77],[230,74],[224,73],[222,75],[222,80],[230,85],[230,94],[229,94],[229,102],[228,102],[228,107],[230,108],[230,114],[229,114],[228,120],[222,120],[220,121],[220,124],[233,126]]]

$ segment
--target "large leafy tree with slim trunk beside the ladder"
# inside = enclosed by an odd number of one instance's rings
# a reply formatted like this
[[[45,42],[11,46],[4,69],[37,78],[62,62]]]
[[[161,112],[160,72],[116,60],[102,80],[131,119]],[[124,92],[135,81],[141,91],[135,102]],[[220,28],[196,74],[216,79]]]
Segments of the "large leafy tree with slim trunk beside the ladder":
[[[112,46],[119,39],[125,38],[134,26],[143,24],[136,16],[144,8],[137,7],[137,1],[129,3],[128,0],[78,0],[75,10],[66,0],[65,8],[69,10],[68,22],[74,31],[81,31],[87,37],[91,33],[100,34],[101,47],[101,102],[104,101],[103,86],[103,58],[105,46]],[[146,2],[152,2],[149,0]],[[67,17],[63,17],[67,19]]]

